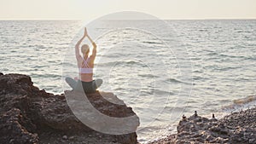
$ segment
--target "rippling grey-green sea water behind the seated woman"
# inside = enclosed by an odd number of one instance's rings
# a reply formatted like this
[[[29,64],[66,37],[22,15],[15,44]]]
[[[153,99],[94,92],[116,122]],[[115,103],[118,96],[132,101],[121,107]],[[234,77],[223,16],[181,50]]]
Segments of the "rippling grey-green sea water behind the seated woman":
[[[256,20],[166,20],[166,25],[106,20],[88,26],[98,45],[94,77],[104,81],[100,90],[137,112],[139,141],[175,132],[182,114],[214,112],[221,118],[255,105],[230,107],[256,94]],[[70,89],[63,78],[78,74],[73,46],[82,26],[73,20],[0,21],[0,72],[27,74],[39,89],[63,93]]]

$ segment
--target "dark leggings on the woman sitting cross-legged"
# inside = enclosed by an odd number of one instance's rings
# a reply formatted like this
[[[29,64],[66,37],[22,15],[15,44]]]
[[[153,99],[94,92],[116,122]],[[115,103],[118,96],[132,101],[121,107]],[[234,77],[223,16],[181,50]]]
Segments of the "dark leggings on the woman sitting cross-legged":
[[[73,78],[67,77],[67,84],[76,91],[84,91],[84,93],[95,93],[96,89],[102,85],[102,79],[98,78],[91,82],[83,82],[81,80],[74,80]]]

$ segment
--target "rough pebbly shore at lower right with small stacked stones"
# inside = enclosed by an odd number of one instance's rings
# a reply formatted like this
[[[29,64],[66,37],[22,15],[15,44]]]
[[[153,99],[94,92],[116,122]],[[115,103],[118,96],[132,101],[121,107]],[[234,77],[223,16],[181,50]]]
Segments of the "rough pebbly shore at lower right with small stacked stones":
[[[189,118],[183,116],[177,125],[177,134],[150,142],[171,143],[256,143],[256,107],[234,112],[224,118],[202,118],[195,112]]]

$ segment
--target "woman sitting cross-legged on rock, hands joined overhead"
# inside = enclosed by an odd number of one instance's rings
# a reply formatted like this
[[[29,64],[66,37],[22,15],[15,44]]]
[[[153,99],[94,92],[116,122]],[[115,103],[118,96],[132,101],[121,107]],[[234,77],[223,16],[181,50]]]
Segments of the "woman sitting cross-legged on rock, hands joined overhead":
[[[79,53],[80,44],[84,38],[88,37],[90,43],[93,45],[92,54],[89,56],[90,47],[88,44],[84,44],[81,47],[82,55]],[[66,78],[67,84],[70,85],[74,90],[84,91],[85,93],[95,93],[96,89],[102,85],[102,79],[93,80],[93,67],[94,60],[96,58],[96,43],[90,38],[87,33],[86,27],[84,28],[84,36],[75,45],[75,55],[79,67],[79,79],[76,81],[73,78]]]

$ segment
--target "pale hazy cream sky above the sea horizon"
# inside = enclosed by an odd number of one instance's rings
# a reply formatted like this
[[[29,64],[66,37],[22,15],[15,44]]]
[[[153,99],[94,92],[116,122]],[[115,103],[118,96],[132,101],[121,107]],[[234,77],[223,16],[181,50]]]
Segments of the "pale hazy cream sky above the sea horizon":
[[[160,19],[256,19],[256,0],[0,0],[0,20],[92,20],[127,10]]]

